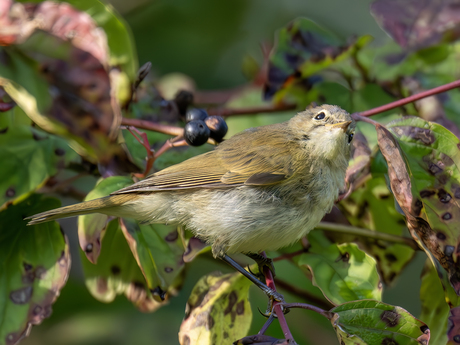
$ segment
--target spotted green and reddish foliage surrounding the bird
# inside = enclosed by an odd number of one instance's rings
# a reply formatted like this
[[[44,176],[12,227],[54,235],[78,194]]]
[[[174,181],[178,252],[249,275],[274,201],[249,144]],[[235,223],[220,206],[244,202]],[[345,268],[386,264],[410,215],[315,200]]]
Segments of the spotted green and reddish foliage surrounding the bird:
[[[460,10],[454,1],[422,3],[373,2],[372,15],[392,38],[385,44],[293,19],[276,33],[264,61],[245,58],[246,85],[206,93],[184,75],[146,77],[150,65],[136,75],[130,29],[106,3],[1,2],[0,345],[18,343],[50,315],[69,274],[69,247],[58,223],[27,227],[23,220],[57,207],[48,194],[103,197],[152,168],[212,149],[212,139],[186,145],[184,107],[225,116],[233,135],[286,120],[312,102],[337,104],[361,121],[346,190],[327,223],[300,244],[269,253],[278,257],[275,266],[285,265],[288,273],[278,272],[277,279],[289,298],[321,306],[289,308],[325,317],[340,344],[428,344],[430,336],[432,343],[458,343],[458,90],[380,111],[374,122],[367,120],[373,126],[359,118],[459,78],[452,71]],[[186,103],[180,90],[190,96]],[[88,175],[99,181],[85,197],[78,180]],[[253,316],[255,297],[249,298],[250,283],[241,274],[191,279],[187,273],[210,251],[187,229],[91,214],[79,217],[78,240],[86,286],[99,301],[123,294],[139,310],[153,312],[197,281],[180,326],[181,344],[291,341],[285,328],[286,339],[247,336],[259,316]],[[420,320],[384,303],[382,295],[408,274],[419,249],[427,256]],[[289,317],[278,315],[282,327]],[[305,334],[297,341],[311,342],[305,329],[314,327],[301,327]]]

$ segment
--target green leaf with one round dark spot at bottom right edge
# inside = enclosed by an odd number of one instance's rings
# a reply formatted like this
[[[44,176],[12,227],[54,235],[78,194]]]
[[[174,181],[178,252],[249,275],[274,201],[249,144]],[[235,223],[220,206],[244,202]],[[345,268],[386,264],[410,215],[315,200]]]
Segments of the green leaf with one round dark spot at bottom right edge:
[[[401,307],[364,300],[331,312],[336,313],[331,322],[337,337],[345,344],[428,345],[430,340],[428,326]]]

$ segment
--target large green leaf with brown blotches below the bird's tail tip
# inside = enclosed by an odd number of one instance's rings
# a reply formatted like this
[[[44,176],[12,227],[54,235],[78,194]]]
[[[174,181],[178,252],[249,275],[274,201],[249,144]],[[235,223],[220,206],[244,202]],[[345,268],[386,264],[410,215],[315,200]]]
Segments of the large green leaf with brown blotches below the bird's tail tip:
[[[59,224],[23,220],[58,206],[33,194],[0,212],[0,344],[16,344],[48,317],[67,280],[69,248]]]

